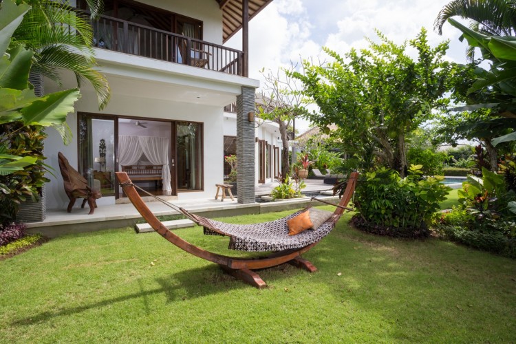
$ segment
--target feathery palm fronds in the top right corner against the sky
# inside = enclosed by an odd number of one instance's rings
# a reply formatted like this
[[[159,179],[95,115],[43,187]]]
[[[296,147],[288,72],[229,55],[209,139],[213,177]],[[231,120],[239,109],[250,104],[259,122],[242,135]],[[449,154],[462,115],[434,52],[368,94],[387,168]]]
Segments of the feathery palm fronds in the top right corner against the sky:
[[[440,10],[433,24],[442,34],[442,25],[451,17],[470,19],[469,28],[488,36],[516,34],[516,0],[453,0]],[[466,57],[473,61],[474,47],[469,45]]]

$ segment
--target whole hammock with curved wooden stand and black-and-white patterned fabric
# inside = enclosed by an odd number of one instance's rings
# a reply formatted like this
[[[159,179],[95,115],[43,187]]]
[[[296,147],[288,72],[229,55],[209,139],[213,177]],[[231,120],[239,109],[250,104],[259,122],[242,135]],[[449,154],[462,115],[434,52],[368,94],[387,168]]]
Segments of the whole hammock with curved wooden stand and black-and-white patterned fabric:
[[[136,187],[138,186],[135,186],[131,180],[129,180],[127,173],[116,172],[116,176],[131,203],[136,207],[142,217],[147,220],[149,225],[151,225],[156,232],[160,233],[164,239],[192,255],[219,264],[224,268],[224,270],[230,272],[230,274],[238,277],[239,279],[243,279],[257,288],[264,288],[266,283],[261,280],[256,272],[251,271],[251,269],[269,268],[288,262],[295,266],[305,268],[305,270],[310,272],[317,270],[310,261],[301,259],[300,255],[303,252],[310,250],[310,248],[315,246],[323,237],[330,233],[330,231],[335,227],[336,222],[338,222],[338,219],[341,218],[345,209],[352,211],[352,209],[347,208],[346,206],[352,198],[356,181],[358,179],[358,173],[351,173],[345,192],[341,197],[341,202],[339,202],[339,204],[332,204],[333,206],[336,206],[336,210],[330,219],[314,230],[305,230],[297,235],[288,235],[287,221],[288,219],[296,217],[308,208],[271,222],[263,222],[260,224],[228,224],[226,222],[220,222],[200,215],[195,215],[186,211],[184,208],[180,208],[170,204],[169,202],[161,200],[159,197],[153,196],[157,200],[160,200],[167,206],[170,206],[191,219],[195,224],[202,226],[204,228],[204,234],[226,235],[230,237],[230,249],[261,252],[276,251],[268,257],[242,259],[239,257],[218,255],[216,253],[203,250],[202,248],[194,246],[188,241],[178,237],[178,235],[171,232],[171,230],[166,228],[160,220],[153,215],[147,205],[143,202],[140,195],[138,195],[138,192],[136,191]],[[312,197],[312,200],[318,199]],[[331,204],[323,200],[318,201]]]

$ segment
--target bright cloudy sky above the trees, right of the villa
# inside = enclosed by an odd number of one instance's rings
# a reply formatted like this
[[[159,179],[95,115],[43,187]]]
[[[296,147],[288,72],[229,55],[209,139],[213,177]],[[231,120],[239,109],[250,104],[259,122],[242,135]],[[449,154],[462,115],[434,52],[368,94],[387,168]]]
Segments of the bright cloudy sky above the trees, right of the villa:
[[[433,31],[439,11],[450,0],[274,0],[249,24],[249,76],[263,78],[262,68],[277,72],[289,67],[290,61],[321,58],[327,60],[322,47],[339,54],[352,47],[367,47],[365,37],[376,39],[375,29],[401,44],[424,27],[431,46],[450,40],[446,58],[465,63],[466,43],[459,41],[460,31],[445,23],[442,36]],[[241,49],[241,30],[226,45]],[[416,56],[416,51],[408,51]],[[310,127],[297,120],[300,133]]]

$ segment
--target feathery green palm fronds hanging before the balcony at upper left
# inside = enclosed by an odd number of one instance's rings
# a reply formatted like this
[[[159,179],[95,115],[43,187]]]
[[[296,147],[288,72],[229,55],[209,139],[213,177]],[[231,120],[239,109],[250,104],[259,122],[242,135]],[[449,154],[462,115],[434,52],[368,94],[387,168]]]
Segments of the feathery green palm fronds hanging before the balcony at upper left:
[[[80,87],[89,81],[98,96],[99,109],[109,102],[110,90],[96,66],[92,50],[93,31],[87,17],[66,3],[52,0],[25,0],[32,9],[25,14],[13,38],[34,52],[31,71],[59,85],[62,69],[72,71]],[[102,0],[88,0],[92,17],[103,10]]]

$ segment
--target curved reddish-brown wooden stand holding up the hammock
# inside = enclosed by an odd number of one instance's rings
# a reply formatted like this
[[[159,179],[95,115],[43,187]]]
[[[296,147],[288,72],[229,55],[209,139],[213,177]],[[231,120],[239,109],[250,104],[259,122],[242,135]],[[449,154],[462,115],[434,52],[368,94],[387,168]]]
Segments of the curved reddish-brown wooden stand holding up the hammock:
[[[242,281],[249,283],[251,286],[255,286],[257,288],[265,288],[267,284],[262,280],[259,275],[252,271],[256,269],[263,269],[263,268],[271,268],[272,266],[278,266],[283,263],[289,263],[293,266],[297,266],[298,268],[303,268],[305,270],[308,270],[309,272],[314,272],[317,270],[317,268],[310,263],[310,261],[301,258],[301,255],[304,252],[307,252],[312,247],[314,247],[319,240],[322,237],[319,237],[317,241],[312,242],[310,244],[307,244],[303,247],[299,248],[290,248],[286,250],[280,250],[278,252],[274,252],[271,255],[267,257],[257,257],[257,258],[239,258],[239,257],[230,257],[225,255],[219,255],[217,253],[209,252],[207,250],[203,250],[202,248],[199,248],[193,244],[190,244],[188,241],[182,239],[181,237],[178,237],[178,235],[175,235],[172,233],[171,230],[166,228],[160,220],[155,217],[155,215],[151,212],[151,210],[147,207],[147,205],[142,200],[142,197],[138,195],[138,191],[136,191],[135,186],[131,183],[131,180],[129,180],[129,177],[127,176],[127,173],[125,172],[116,172],[116,177],[118,178],[118,181],[120,182],[120,186],[122,186],[124,192],[126,193],[127,197],[129,197],[129,200],[131,203],[135,206],[135,208],[138,210],[140,215],[149,223],[149,225],[158,232],[164,239],[170,241],[175,246],[178,246],[178,248],[181,248],[182,250],[185,250],[186,252],[191,253],[192,255],[195,255],[197,257],[200,257],[202,259],[206,259],[207,261],[211,261],[215,264],[219,264],[221,268],[226,270],[226,272],[230,273],[230,275],[233,275],[237,279],[241,279]],[[356,181],[358,180],[358,173],[353,172],[350,174],[350,178],[347,182],[347,186],[345,189],[345,192],[343,196],[341,197],[341,202],[339,204],[332,204],[333,206],[336,206],[336,209],[330,217],[330,219],[327,220],[324,224],[322,224],[319,228],[325,227],[329,230],[327,230],[327,233],[330,232],[336,225],[336,222],[338,222],[338,219],[341,218],[344,210],[352,211],[353,209],[346,208],[347,204],[350,202],[355,186]],[[312,197],[312,200],[317,200],[316,198]],[[158,198],[158,200],[161,200]],[[319,200],[320,201],[320,200]],[[164,201],[162,201],[164,202]],[[323,201],[322,201],[323,202]],[[164,202],[168,203],[168,202]],[[324,202],[328,203],[328,202]],[[329,203],[328,203],[329,204]],[[199,215],[195,215],[192,213],[189,213],[189,211],[186,211],[184,208],[180,208],[178,206],[173,206],[171,204],[168,204],[172,208],[174,208],[176,211],[179,211],[189,219],[191,219],[193,222],[198,224],[199,226],[204,227],[204,233],[206,234],[216,234],[216,235],[229,235],[231,236],[231,239],[233,239],[233,235],[230,235],[228,233],[225,233],[222,231],[218,226],[215,226],[214,224],[223,224],[222,222],[216,222],[211,219],[207,219],[206,217],[202,217]],[[304,211],[304,209],[303,209]],[[300,212],[297,212],[300,213]],[[290,215],[291,218],[294,217],[297,213],[294,213]],[[281,219],[280,219],[281,220]],[[279,222],[279,220],[275,220],[275,222]],[[273,222],[266,222],[264,225],[272,224]],[[228,226],[233,226],[233,228],[244,227],[244,226],[252,226],[252,225],[231,225],[228,224]],[[329,227],[329,228],[328,228]],[[317,230],[306,230],[303,233],[306,232],[313,232],[316,233]],[[208,232],[208,233],[207,233]],[[298,237],[300,235],[303,235],[303,233],[300,233],[298,235],[288,235],[285,233],[285,237]],[[323,236],[327,235],[325,233]],[[288,238],[288,239],[290,239]]]

